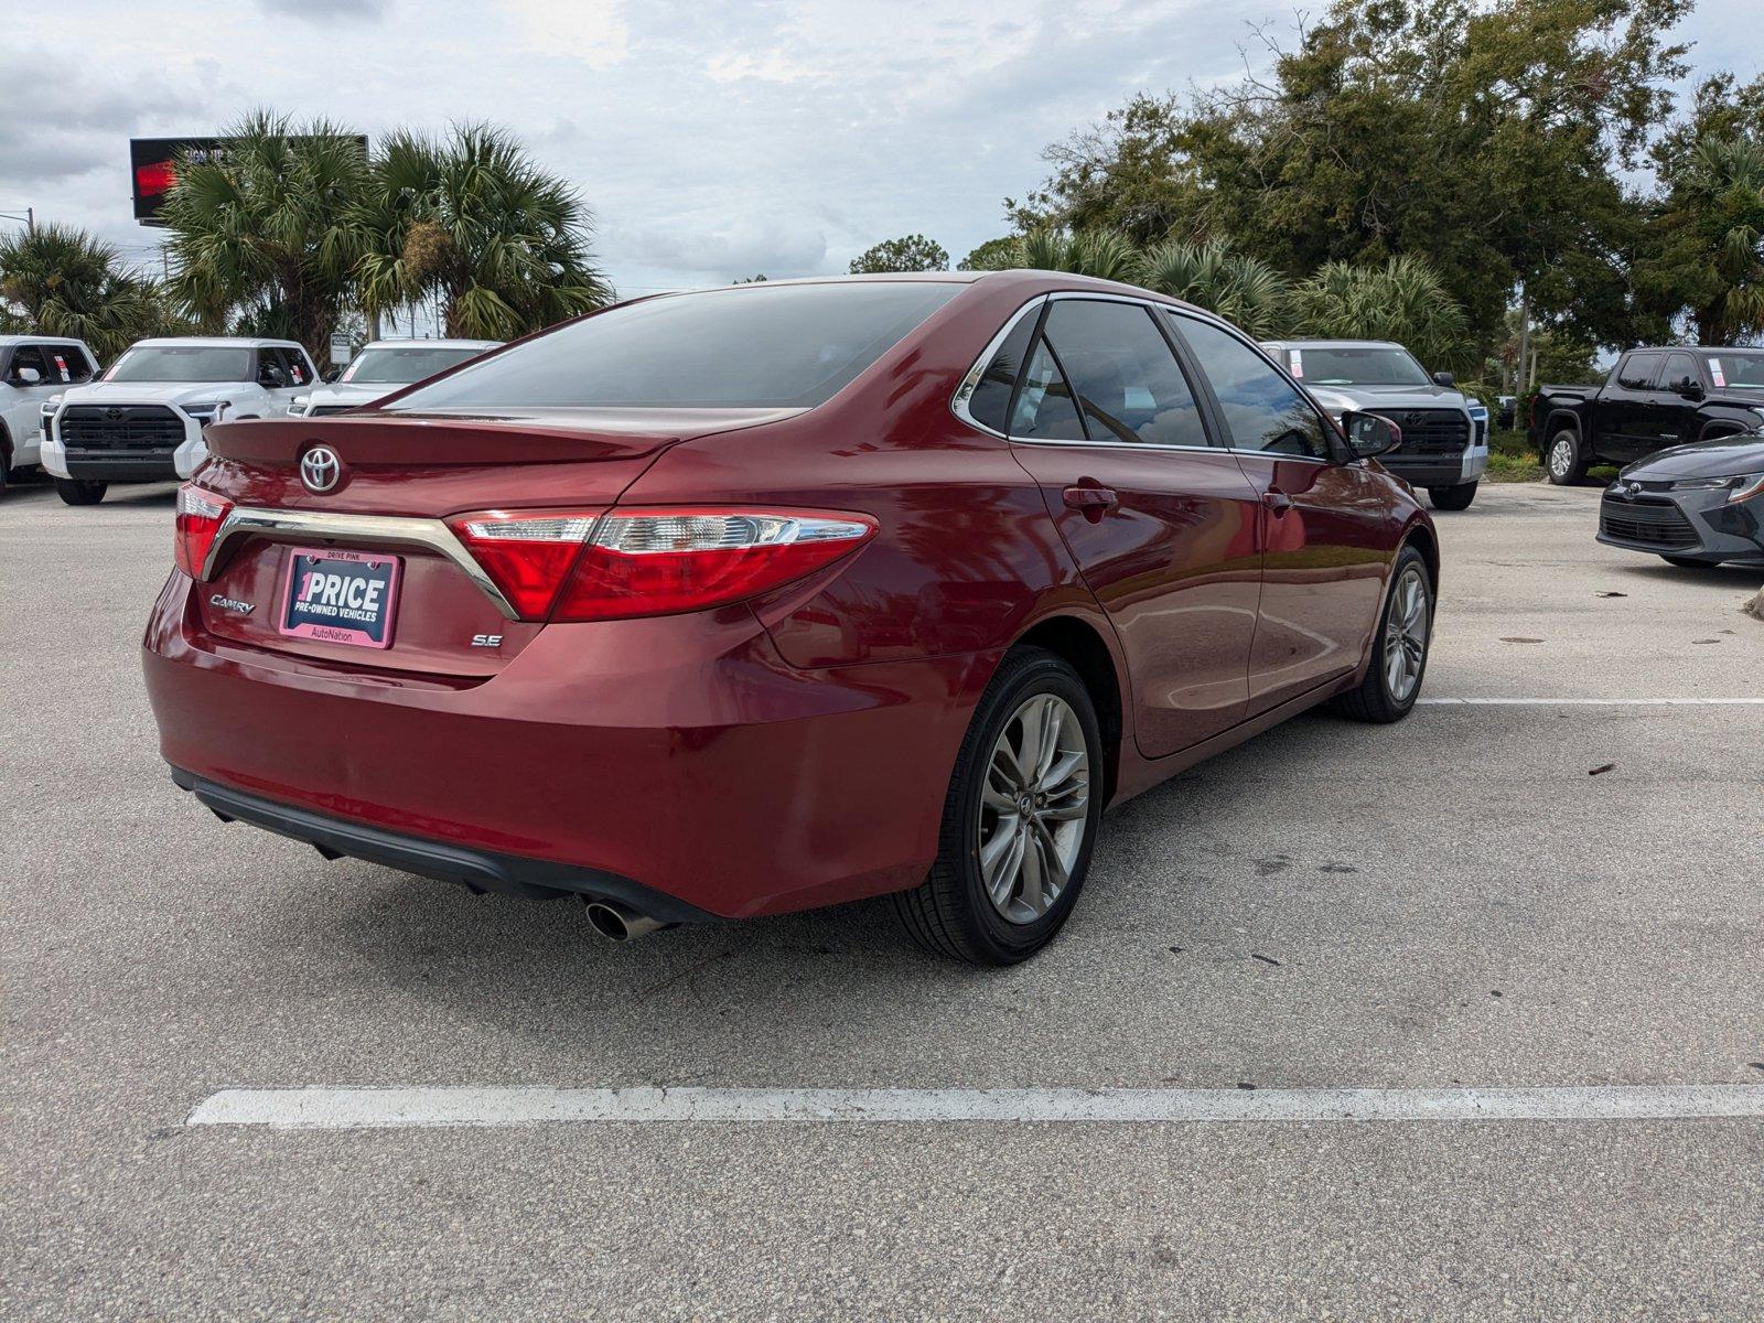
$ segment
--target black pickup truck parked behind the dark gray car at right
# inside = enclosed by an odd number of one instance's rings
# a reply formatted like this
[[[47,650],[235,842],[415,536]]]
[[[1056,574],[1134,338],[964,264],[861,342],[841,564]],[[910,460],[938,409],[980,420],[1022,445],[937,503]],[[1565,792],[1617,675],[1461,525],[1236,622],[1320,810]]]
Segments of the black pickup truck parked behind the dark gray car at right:
[[[1630,349],[1603,386],[1538,386],[1528,434],[1563,485],[1593,464],[1633,464],[1760,422],[1764,349]]]

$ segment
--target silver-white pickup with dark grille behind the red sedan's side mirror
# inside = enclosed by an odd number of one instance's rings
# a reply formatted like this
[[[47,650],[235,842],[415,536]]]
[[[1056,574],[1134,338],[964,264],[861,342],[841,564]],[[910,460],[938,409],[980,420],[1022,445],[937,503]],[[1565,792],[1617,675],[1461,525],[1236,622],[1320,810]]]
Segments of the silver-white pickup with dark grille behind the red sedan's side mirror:
[[[1390,340],[1263,340],[1311,399],[1337,422],[1376,413],[1402,432],[1402,445],[1378,462],[1438,510],[1468,510],[1489,467],[1489,411],[1464,395],[1450,372],[1427,370]]]

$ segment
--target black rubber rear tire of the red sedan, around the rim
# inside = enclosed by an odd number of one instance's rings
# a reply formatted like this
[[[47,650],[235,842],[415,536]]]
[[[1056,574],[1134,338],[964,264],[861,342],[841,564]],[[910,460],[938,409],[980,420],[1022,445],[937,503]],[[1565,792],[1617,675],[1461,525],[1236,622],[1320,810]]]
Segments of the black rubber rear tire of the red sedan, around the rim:
[[[1088,757],[1088,806],[1085,834],[1067,870],[1065,887],[1039,917],[1007,919],[986,893],[979,861],[981,790],[993,750],[1018,709],[1035,695],[1064,699],[1078,716]],[[1014,965],[1044,947],[1065,924],[1078,903],[1090,852],[1102,820],[1104,748],[1095,706],[1078,672],[1041,647],[1011,651],[974,709],[968,734],[956,753],[956,769],[944,796],[937,863],[914,891],[894,896],[894,908],[907,931],[926,951],[974,965]]]

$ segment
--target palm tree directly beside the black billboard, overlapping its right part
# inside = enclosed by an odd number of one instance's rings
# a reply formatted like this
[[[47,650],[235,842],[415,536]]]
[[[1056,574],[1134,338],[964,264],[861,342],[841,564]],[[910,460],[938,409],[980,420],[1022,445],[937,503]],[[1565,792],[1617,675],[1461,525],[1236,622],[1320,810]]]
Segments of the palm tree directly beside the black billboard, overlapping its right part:
[[[280,330],[316,356],[351,295],[362,139],[326,120],[256,111],[213,155],[178,162],[161,219],[171,288],[210,330]]]

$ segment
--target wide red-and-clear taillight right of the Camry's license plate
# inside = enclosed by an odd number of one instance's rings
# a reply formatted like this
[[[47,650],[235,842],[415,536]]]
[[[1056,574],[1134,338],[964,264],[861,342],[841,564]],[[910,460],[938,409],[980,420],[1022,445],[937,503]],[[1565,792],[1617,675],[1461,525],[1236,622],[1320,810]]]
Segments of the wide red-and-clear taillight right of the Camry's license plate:
[[[674,616],[741,602],[868,542],[820,510],[492,510],[448,520],[522,619]]]

